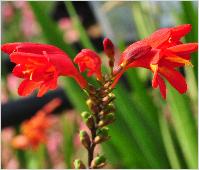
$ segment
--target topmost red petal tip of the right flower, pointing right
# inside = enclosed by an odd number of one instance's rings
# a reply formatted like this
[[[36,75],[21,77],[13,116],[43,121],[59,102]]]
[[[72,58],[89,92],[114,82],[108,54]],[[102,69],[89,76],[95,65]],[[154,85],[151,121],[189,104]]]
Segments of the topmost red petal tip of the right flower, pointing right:
[[[179,25],[171,29],[172,39],[180,39],[191,31],[190,24]]]

